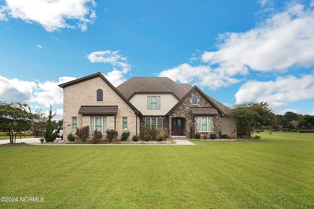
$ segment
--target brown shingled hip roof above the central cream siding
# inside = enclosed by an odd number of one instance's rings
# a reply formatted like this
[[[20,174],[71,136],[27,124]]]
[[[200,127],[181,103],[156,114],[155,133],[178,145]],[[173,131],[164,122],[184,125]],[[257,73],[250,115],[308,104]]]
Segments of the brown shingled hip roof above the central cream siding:
[[[132,77],[116,87],[127,99],[134,93],[173,93],[178,99],[192,89],[189,84],[177,84],[167,77]]]

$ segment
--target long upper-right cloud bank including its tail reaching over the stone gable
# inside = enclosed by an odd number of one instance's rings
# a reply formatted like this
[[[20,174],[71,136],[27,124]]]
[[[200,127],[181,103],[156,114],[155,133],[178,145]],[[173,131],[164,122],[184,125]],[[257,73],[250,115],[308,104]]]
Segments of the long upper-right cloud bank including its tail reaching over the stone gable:
[[[272,1],[260,3],[269,5]],[[278,73],[295,67],[311,67],[314,65],[314,10],[291,4],[247,32],[219,34],[216,46],[216,51],[194,54],[191,65],[184,63],[163,70],[158,76],[193,81],[215,90],[239,82],[240,76],[251,71]]]

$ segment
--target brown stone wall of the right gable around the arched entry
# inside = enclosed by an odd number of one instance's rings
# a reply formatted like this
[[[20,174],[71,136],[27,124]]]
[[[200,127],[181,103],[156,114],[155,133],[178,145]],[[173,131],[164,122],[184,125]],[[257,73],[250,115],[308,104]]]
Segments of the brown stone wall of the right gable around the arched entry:
[[[198,105],[192,105],[192,97],[196,95],[198,99]],[[183,102],[170,113],[169,115],[169,124],[171,128],[172,118],[175,117],[183,117],[185,118],[185,126],[183,127],[183,135],[187,138],[190,138],[190,127],[192,127],[193,134],[197,131],[197,116],[193,116],[190,110],[190,107],[212,107],[212,105],[208,102],[207,98],[205,98],[198,90],[194,90],[188,95]],[[215,133],[217,138],[219,138],[219,131],[221,129],[221,116],[220,115],[208,115],[211,117],[211,132]],[[171,135],[171,130],[170,135]],[[203,137],[205,134],[209,136],[208,133],[200,133]]]

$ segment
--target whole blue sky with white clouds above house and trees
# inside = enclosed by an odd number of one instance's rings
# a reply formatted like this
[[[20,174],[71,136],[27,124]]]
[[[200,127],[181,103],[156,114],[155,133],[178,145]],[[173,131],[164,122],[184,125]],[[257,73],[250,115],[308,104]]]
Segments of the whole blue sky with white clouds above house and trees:
[[[314,115],[314,0],[0,0],[1,101],[61,119],[57,85],[98,71]]]

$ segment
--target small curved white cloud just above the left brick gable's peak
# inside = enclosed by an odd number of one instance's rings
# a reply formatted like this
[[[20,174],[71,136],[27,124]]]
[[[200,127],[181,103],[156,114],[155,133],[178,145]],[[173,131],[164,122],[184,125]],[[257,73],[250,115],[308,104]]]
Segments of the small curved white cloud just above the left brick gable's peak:
[[[94,51],[87,55],[87,59],[91,63],[111,65],[113,70],[104,75],[114,86],[118,86],[126,81],[124,74],[131,70],[131,65],[128,63],[128,59],[119,54],[119,50]]]

